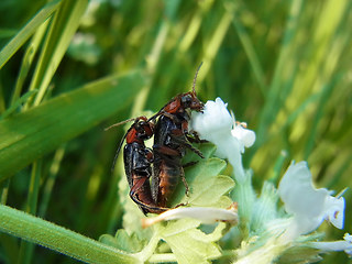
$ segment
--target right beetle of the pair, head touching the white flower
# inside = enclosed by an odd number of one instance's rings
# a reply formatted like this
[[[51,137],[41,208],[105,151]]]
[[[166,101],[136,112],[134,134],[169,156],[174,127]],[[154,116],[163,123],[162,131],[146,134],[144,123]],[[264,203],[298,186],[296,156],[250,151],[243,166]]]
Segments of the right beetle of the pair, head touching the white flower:
[[[154,128],[152,175],[152,196],[158,207],[167,206],[179,178],[184,182],[186,195],[188,194],[188,185],[182,164],[186,148],[204,157],[201,152],[190,144],[191,136],[188,132],[189,111],[204,109],[204,103],[197,98],[195,90],[200,66],[195,75],[193,91],[176,96],[148,119],[156,120],[158,118]]]

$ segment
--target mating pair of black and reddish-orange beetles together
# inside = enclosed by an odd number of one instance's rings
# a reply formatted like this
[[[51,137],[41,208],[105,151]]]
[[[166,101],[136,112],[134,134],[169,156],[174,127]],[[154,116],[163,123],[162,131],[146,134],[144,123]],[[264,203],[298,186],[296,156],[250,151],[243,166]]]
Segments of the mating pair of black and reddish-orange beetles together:
[[[179,178],[183,179],[188,193],[182,164],[186,148],[204,157],[190,144],[188,132],[189,111],[201,111],[204,108],[195,91],[198,70],[193,91],[176,96],[150,119],[139,117],[113,125],[134,120],[124,135],[127,144],[123,150],[123,161],[130,185],[130,197],[145,215],[168,210],[167,200],[176,189]],[[154,145],[151,150],[145,146],[144,141],[153,135]]]

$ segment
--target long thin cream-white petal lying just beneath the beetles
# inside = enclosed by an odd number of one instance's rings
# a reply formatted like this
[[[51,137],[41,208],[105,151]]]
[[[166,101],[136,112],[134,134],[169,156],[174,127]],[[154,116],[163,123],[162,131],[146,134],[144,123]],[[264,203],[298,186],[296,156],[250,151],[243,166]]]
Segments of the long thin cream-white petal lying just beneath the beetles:
[[[167,210],[154,218],[142,219],[142,227],[146,228],[160,221],[176,220],[183,218],[193,218],[202,223],[213,223],[218,221],[238,222],[237,207],[232,206],[228,210],[207,207],[186,207]]]

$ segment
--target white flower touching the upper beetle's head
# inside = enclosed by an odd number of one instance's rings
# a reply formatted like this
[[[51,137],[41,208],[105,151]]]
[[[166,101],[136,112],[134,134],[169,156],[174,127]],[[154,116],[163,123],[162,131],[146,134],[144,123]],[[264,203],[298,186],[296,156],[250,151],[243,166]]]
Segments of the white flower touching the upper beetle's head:
[[[241,154],[244,146],[251,146],[255,141],[255,133],[235,124],[231,114],[220,98],[207,101],[202,112],[193,112],[189,128],[196,131],[201,140],[217,145],[217,155],[228,158],[233,166],[235,179],[243,183],[245,174]],[[234,127],[234,128],[233,128]]]

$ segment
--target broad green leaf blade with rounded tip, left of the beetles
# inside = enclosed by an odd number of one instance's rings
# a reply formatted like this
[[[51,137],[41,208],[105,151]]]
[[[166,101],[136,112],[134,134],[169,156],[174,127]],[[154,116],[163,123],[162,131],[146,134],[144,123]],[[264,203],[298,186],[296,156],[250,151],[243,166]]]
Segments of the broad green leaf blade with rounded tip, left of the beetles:
[[[129,106],[144,78],[112,76],[0,121],[0,180]]]

